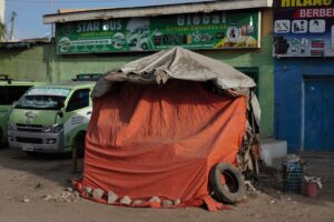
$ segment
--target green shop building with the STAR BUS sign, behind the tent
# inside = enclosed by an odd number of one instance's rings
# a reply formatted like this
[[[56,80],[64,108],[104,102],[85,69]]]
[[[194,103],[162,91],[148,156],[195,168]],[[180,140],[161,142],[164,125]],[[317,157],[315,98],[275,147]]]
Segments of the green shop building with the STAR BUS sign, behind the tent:
[[[42,52],[38,51],[40,54],[35,58],[41,59],[46,79],[59,82],[78,73],[104,73],[175,46],[194,50],[254,78],[262,105],[261,133],[271,137],[274,132],[272,20],[269,0],[59,10],[43,17],[45,23],[55,26],[55,42],[39,48]],[[13,71],[13,58],[6,61],[7,73]]]

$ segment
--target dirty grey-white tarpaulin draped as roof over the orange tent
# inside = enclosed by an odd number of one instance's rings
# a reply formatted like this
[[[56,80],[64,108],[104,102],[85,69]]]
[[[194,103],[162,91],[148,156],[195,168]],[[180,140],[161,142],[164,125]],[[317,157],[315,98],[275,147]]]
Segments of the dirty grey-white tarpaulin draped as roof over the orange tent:
[[[180,47],[156,52],[105,73],[96,83],[91,97],[99,98],[108,93],[115,82],[161,84],[173,79],[212,81],[217,88],[248,95],[256,123],[259,125],[261,108],[256,94],[250,90],[256,87],[254,80],[229,64]]]

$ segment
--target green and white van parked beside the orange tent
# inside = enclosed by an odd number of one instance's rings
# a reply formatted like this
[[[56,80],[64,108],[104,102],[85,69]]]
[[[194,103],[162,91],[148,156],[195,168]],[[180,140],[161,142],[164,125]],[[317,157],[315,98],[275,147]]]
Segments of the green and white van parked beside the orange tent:
[[[9,117],[9,147],[61,153],[70,152],[76,144],[78,155],[82,155],[92,105],[90,92],[96,83],[87,80],[77,75],[75,81],[29,89]]]

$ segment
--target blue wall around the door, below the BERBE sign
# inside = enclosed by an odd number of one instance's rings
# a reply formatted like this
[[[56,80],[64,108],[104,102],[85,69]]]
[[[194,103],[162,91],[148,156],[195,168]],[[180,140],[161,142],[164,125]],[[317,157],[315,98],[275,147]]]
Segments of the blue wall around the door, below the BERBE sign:
[[[288,152],[297,152],[302,145],[303,79],[333,77],[334,59],[285,58],[275,61],[275,134],[287,141]]]

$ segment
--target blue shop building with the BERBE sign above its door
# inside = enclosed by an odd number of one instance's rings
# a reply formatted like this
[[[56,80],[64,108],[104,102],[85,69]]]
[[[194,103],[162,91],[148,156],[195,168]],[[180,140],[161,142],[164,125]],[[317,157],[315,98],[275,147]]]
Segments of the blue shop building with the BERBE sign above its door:
[[[333,152],[334,2],[274,2],[275,135],[289,152]]]

